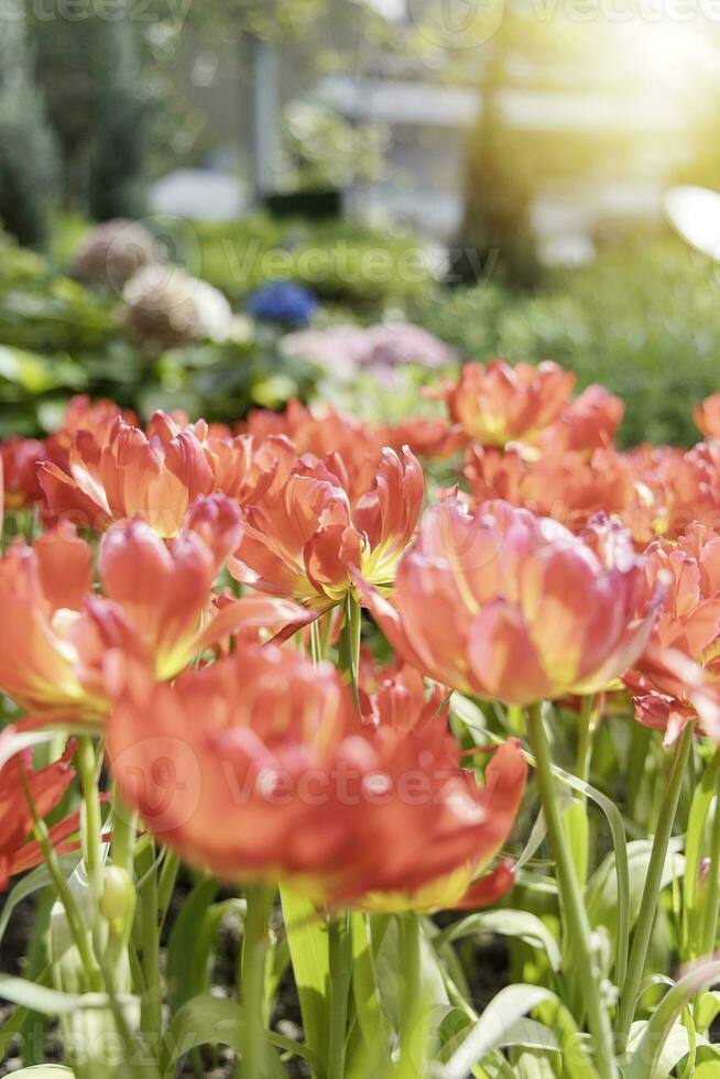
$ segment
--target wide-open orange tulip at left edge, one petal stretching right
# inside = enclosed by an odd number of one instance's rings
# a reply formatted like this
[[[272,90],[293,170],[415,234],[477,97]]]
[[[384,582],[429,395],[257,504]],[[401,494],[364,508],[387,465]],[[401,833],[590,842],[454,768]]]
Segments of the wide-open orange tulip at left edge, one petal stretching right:
[[[140,520],[118,522],[92,552],[67,522],[0,559],[0,689],[37,719],[103,721],[110,697],[137,665],[170,678],[229,634],[302,626],[308,612],[286,600],[214,602],[212,585],[241,532],[225,495],[198,500],[165,543]]]

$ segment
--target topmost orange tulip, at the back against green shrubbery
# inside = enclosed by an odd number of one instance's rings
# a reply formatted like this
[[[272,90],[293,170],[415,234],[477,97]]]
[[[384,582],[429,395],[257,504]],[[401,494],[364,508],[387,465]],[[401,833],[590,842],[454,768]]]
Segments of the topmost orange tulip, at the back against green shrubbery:
[[[467,363],[444,396],[454,423],[483,446],[533,443],[571,401],[575,375],[550,361]]]

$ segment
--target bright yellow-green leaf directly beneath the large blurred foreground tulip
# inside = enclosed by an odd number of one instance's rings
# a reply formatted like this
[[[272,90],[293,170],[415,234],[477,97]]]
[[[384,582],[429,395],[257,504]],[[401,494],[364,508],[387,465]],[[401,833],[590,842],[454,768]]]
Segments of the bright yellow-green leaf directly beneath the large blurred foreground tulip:
[[[318,1057],[325,1059],[328,1043],[326,1001],[330,979],[327,926],[309,900],[287,887],[281,887],[280,895],[305,1042]]]

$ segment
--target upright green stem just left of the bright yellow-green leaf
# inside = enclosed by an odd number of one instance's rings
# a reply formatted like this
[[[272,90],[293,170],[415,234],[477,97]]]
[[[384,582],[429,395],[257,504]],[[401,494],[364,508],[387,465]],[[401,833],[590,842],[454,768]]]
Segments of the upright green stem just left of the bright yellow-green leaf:
[[[273,893],[258,884],[246,892],[248,911],[240,957],[239,995],[242,1003],[243,1054],[239,1069],[242,1079],[262,1079],[266,1073],[265,974],[270,940],[270,911]]]

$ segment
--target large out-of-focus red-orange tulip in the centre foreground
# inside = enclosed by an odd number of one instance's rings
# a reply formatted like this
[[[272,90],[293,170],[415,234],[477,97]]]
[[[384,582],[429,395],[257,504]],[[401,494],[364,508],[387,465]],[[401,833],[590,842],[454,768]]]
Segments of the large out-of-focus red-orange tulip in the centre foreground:
[[[462,901],[508,836],[526,771],[509,743],[479,787],[441,720],[363,724],[331,666],[276,645],[127,694],[108,750],[123,797],[190,863],[329,906],[377,908],[382,893],[392,909]],[[506,883],[503,868],[484,894]]]

